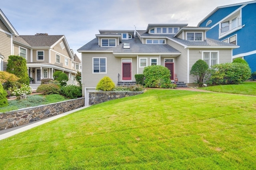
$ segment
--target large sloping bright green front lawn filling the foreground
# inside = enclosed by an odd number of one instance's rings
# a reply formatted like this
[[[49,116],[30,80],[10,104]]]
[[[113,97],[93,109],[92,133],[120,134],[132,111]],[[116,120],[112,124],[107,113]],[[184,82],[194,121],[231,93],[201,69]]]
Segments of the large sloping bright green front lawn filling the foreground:
[[[147,90],[0,140],[0,169],[256,169],[255,101]]]

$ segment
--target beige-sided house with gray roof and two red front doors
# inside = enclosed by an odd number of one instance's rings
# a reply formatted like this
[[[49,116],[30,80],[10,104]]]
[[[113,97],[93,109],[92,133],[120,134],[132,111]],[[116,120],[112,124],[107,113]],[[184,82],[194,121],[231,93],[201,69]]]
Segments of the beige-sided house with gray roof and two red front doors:
[[[95,89],[104,76],[116,84],[133,82],[134,75],[143,73],[148,65],[168,67],[172,81],[177,77],[178,81],[194,83],[189,72],[198,59],[209,66],[232,62],[232,49],[239,47],[206,38],[209,29],[148,24],[146,30],[99,30],[94,40],[78,49],[82,53],[83,92]]]

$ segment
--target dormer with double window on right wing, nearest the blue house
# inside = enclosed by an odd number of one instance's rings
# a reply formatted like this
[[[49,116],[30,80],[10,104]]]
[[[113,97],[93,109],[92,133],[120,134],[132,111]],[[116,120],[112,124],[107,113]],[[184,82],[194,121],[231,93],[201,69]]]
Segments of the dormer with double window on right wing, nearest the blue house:
[[[174,37],[187,41],[204,41],[206,40],[206,32],[210,30],[208,27],[183,27]]]

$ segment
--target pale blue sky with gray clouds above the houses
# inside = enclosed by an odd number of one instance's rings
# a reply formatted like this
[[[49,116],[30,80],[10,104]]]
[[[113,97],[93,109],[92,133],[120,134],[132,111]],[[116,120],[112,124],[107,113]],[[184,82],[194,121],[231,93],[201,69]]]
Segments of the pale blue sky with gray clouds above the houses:
[[[218,6],[250,0],[0,0],[19,35],[65,35],[74,52],[98,30],[146,30],[148,24],[197,26]]]

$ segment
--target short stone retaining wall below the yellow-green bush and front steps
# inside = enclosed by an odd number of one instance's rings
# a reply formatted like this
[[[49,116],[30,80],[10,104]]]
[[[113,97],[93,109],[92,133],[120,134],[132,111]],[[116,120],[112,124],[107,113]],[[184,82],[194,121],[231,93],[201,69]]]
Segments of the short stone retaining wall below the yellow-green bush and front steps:
[[[143,91],[95,91],[89,92],[89,105],[142,94]]]

